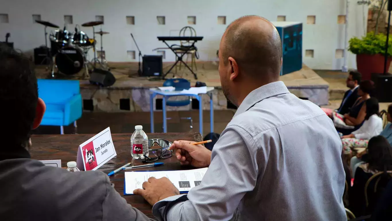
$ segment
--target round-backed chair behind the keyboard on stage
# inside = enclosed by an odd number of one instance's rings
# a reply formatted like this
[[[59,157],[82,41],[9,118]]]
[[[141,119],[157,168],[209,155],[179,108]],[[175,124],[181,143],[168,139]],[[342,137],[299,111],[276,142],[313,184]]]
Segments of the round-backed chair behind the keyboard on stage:
[[[197,36],[196,35],[196,30],[191,27],[191,26],[185,26],[183,28],[181,28],[180,30],[180,37],[194,37]],[[180,45],[172,45],[172,46],[176,46],[174,47],[174,51],[177,54],[182,54],[185,53],[185,51],[187,51],[186,55],[187,55],[187,60],[185,61],[185,63],[188,64],[188,59],[189,59],[189,55],[191,55],[191,69],[193,71],[193,67],[196,69],[197,71],[197,67],[196,67],[196,58],[198,58],[197,55],[197,47],[196,46],[192,46],[193,41],[180,41]],[[176,60],[178,59],[178,57],[176,57]],[[179,64],[179,65],[178,65]],[[181,70],[181,65],[182,62],[178,62],[176,65],[176,73],[177,73],[177,66],[179,67],[179,70]]]

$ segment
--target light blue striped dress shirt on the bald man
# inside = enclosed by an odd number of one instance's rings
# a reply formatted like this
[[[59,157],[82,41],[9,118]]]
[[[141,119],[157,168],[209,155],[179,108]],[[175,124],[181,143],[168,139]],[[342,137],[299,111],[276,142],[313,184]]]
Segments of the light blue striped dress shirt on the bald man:
[[[255,89],[212,150],[201,184],[159,201],[159,220],[347,220],[342,143],[315,104],[283,82]]]

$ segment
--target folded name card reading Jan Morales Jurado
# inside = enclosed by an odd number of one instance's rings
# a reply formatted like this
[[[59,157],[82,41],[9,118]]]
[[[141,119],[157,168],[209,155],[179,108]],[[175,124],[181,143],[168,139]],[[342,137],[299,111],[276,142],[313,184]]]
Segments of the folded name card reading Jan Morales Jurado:
[[[110,128],[79,145],[76,165],[79,170],[96,170],[117,155]]]

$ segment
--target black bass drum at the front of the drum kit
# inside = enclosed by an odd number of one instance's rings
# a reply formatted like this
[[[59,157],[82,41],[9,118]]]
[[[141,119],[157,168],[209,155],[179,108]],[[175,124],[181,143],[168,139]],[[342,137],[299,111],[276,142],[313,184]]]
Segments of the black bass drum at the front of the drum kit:
[[[56,55],[57,68],[66,75],[74,75],[81,71],[83,63],[83,53],[75,47],[63,47]]]

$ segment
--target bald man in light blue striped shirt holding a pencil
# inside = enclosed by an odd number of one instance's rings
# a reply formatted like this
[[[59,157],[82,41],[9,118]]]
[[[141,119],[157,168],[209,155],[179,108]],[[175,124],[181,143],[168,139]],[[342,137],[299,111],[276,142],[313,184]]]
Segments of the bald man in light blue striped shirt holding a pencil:
[[[166,177],[151,177],[134,191],[154,205],[154,216],[165,221],[347,220],[341,140],[318,106],[279,81],[281,59],[279,33],[265,18],[245,16],[227,27],[219,75],[225,97],[238,110],[212,152],[190,141],[170,147],[181,164],[208,167],[200,185],[180,195]]]

